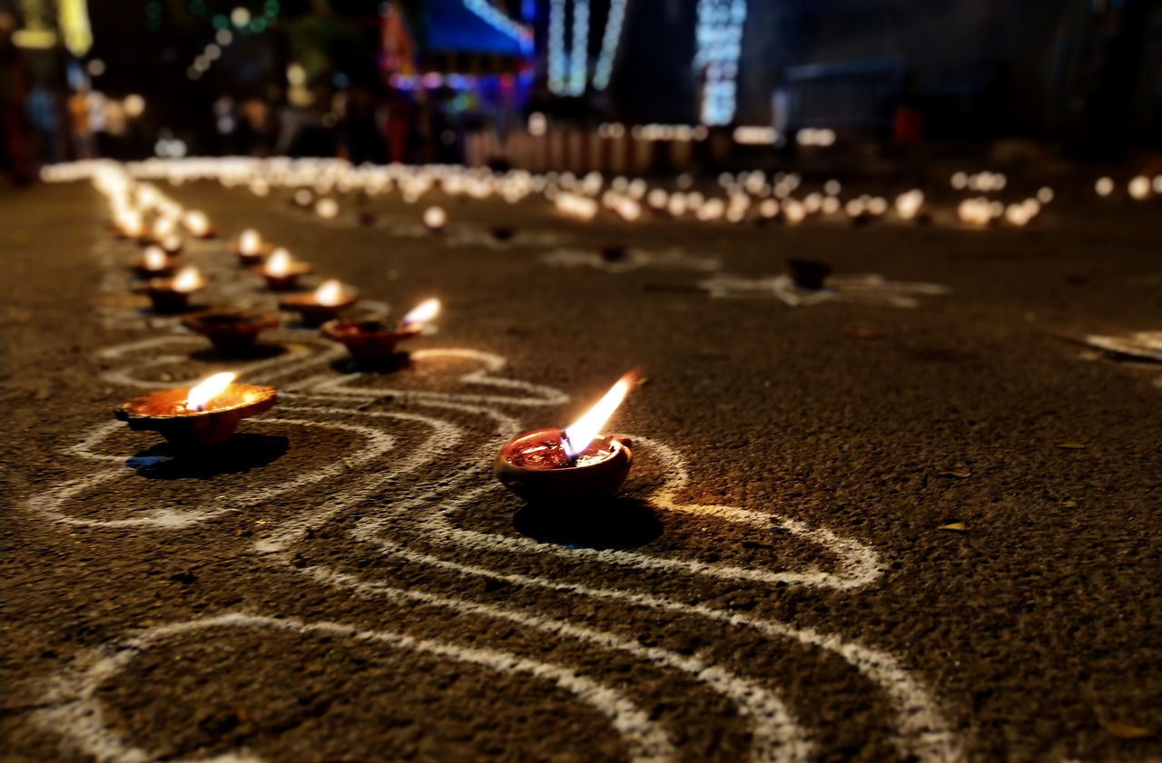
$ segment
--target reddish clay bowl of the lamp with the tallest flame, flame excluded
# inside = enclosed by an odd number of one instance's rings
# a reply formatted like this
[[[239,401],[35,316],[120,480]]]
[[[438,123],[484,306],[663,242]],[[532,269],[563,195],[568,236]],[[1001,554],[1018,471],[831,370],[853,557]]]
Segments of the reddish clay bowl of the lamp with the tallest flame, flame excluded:
[[[560,447],[562,432],[536,430],[509,440],[493,462],[496,477],[529,503],[575,503],[616,495],[630,474],[631,441],[617,436],[598,438],[572,466]]]

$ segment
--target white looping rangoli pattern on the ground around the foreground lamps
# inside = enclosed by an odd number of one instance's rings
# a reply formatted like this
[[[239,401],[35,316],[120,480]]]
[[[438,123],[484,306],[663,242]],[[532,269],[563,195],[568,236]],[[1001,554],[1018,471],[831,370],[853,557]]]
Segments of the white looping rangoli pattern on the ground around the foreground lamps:
[[[113,250],[99,245],[94,252],[114,269]],[[218,254],[221,258],[221,254]],[[235,278],[235,280],[238,280]],[[124,290],[124,281],[110,276],[103,285],[107,293]],[[925,291],[930,293],[930,291]],[[246,288],[246,294],[252,291]],[[386,305],[385,305],[386,307]],[[165,327],[174,321],[152,323],[132,308],[105,303],[99,308],[109,327]],[[180,532],[182,528],[211,523],[246,509],[261,511],[263,503],[274,497],[293,498],[309,485],[331,480],[336,489],[325,505],[304,506],[292,518],[272,523],[272,528],[253,541],[253,549],[266,563],[295,570],[321,585],[354,592],[371,599],[385,599],[416,606],[440,607],[457,616],[469,616],[509,622],[538,632],[546,639],[573,640],[593,649],[603,649],[632,657],[644,664],[682,674],[720,693],[732,701],[751,732],[748,760],[753,762],[801,763],[813,757],[815,743],[810,729],[796,719],[780,697],[777,686],[769,686],[745,672],[695,655],[657,646],[634,638],[586,625],[583,618],[550,617],[519,605],[505,606],[473,598],[471,585],[462,590],[433,592],[421,588],[394,585],[374,580],[371,574],[354,573],[327,564],[294,566],[294,547],[313,528],[338,524],[351,541],[375,549],[383,559],[407,560],[417,568],[451,573],[465,581],[502,581],[522,589],[545,591],[589,603],[609,602],[623,606],[651,610],[701,619],[716,627],[751,631],[773,641],[797,643],[799,648],[818,649],[846,661],[869,685],[875,686],[891,708],[894,724],[887,733],[902,757],[924,763],[964,760],[959,736],[945,719],[935,698],[896,656],[856,640],[789,622],[763,619],[727,609],[718,609],[697,598],[684,600],[651,592],[634,585],[634,573],[661,573],[688,580],[733,581],[772,592],[774,586],[799,586],[856,590],[876,582],[883,574],[877,554],[863,544],[831,530],[811,526],[790,517],[761,510],[725,505],[703,505],[683,498],[691,485],[690,470],[673,447],[653,439],[634,437],[645,460],[653,459],[666,481],[646,496],[662,518],[693,516],[720,523],[724,533],[732,527],[751,532],[777,528],[799,540],[818,546],[831,559],[827,568],[782,569],[777,559],[768,567],[741,567],[717,561],[654,555],[637,550],[597,550],[572,548],[533,541],[523,535],[488,533],[459,526],[454,517],[472,502],[498,490],[487,467],[498,444],[522,431],[523,422],[514,412],[530,408],[559,406],[568,395],[561,390],[501,375],[505,360],[498,355],[471,348],[436,348],[413,353],[417,367],[440,368],[471,366],[457,379],[462,391],[432,391],[411,388],[385,388],[376,382],[388,377],[363,374],[338,375],[324,370],[342,358],[344,351],[330,343],[302,332],[284,331],[272,338],[289,346],[275,358],[235,363],[248,382],[278,386],[284,403],[268,417],[244,425],[246,431],[278,431],[294,437],[304,429],[330,430],[357,437],[363,447],[315,470],[274,485],[238,490],[218,496],[201,506],[151,508],[132,510],[131,516],[94,517],[84,513],[86,498],[116,480],[135,474],[127,454],[102,452],[102,442],[123,430],[117,422],[102,423],[87,431],[70,456],[101,465],[86,477],[69,480],[30,498],[28,506],[42,516],[78,530],[125,530],[135,532]],[[166,363],[182,361],[192,348],[205,347],[201,338],[170,333],[107,347],[98,358],[109,363],[102,379],[110,384],[134,390],[179,386],[186,380],[159,382],[157,376]],[[392,410],[404,402],[407,410]],[[380,410],[387,409],[387,410]],[[466,425],[465,420],[473,422]],[[406,451],[396,447],[401,427],[419,427],[424,436]],[[481,439],[483,429],[490,437]],[[476,437],[469,439],[468,433]],[[472,442],[479,445],[472,445]],[[466,447],[464,458],[480,467],[440,475],[435,468],[440,456]],[[432,472],[429,476],[425,472]],[[342,475],[342,478],[338,478]],[[401,475],[411,475],[407,495],[387,506],[373,501]],[[356,513],[358,518],[344,519]],[[409,541],[410,539],[410,541]],[[538,573],[544,559],[557,557],[560,575],[545,577]],[[497,561],[503,560],[503,561]],[[605,583],[596,586],[571,577],[573,568],[601,564]],[[697,590],[694,586],[693,590]],[[297,634],[303,639],[328,635],[336,640],[374,642],[385,649],[413,650],[440,658],[475,664],[486,669],[529,676],[571,692],[578,701],[603,714],[624,741],[637,762],[679,760],[681,750],[659,719],[636,706],[631,698],[607,684],[607,677],[584,675],[575,667],[555,664],[532,656],[478,648],[443,640],[418,639],[389,631],[368,631],[331,621],[300,621],[256,613],[227,612],[186,622],[171,622],[128,633],[116,642],[81,653],[53,678],[44,698],[44,708],[36,711],[41,724],[59,733],[67,744],[102,762],[137,762],[158,760],[151,751],[122,739],[105,720],[99,686],[127,669],[146,649],[164,649],[166,645],[196,634],[214,638],[230,629],[268,629]],[[619,679],[621,681],[621,679]],[[170,758],[175,761],[178,758]],[[182,758],[191,760],[191,758]],[[196,758],[201,763],[253,763],[263,758],[250,750],[238,750],[216,757]]]

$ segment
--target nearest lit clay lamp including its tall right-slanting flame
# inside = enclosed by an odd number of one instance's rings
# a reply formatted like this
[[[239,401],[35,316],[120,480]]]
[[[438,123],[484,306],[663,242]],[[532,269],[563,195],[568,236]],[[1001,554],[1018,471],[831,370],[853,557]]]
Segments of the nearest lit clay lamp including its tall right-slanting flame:
[[[596,405],[564,430],[536,430],[509,440],[493,462],[496,477],[535,504],[612,497],[630,473],[631,442],[598,432],[637,377],[632,370],[622,376]]]

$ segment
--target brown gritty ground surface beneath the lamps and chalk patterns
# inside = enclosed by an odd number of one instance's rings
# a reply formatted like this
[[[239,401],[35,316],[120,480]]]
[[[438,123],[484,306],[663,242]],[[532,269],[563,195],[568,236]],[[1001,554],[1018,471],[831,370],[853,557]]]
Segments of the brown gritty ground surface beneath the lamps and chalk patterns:
[[[1159,755],[1162,367],[1070,341],[1157,327],[1156,202],[973,231],[437,195],[431,236],[397,197],[365,225],[350,197],[167,193],[368,314],[444,315],[394,373],[293,326],[224,360],[142,310],[87,183],[6,192],[2,760]],[[789,257],[892,283],[791,307],[763,281]],[[202,303],[273,303],[223,242],[187,259]],[[631,367],[623,498],[495,482],[508,437]],[[224,368],[280,401],[213,461],[113,419]]]

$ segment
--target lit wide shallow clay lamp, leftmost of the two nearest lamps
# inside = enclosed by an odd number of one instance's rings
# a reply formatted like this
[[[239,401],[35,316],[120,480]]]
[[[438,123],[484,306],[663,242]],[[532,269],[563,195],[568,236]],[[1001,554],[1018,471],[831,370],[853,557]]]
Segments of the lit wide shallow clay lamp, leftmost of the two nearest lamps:
[[[232,383],[214,374],[194,387],[165,389],[124,403],[116,416],[135,431],[158,432],[178,449],[205,448],[230,439],[238,422],[274,408],[270,387]]]

